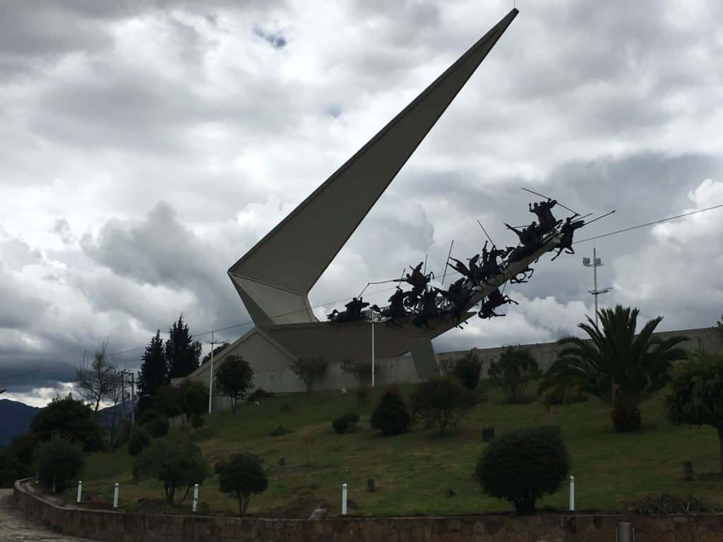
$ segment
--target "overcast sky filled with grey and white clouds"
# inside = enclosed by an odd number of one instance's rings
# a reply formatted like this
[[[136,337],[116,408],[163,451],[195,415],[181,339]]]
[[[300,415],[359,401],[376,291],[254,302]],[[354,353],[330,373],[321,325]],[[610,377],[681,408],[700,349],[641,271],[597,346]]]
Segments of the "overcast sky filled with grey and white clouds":
[[[517,3],[520,14],[310,295],[440,272],[529,223],[526,186],[605,233],[723,203],[723,4]],[[511,1],[0,0],[0,377],[248,322],[226,270]],[[723,210],[541,259],[437,351],[555,340],[604,304],[723,312]],[[293,266],[294,262],[288,262]],[[369,287],[378,291],[383,287]],[[383,302],[388,292],[369,296]],[[323,314],[343,304],[317,309]],[[234,340],[249,329],[220,335]],[[200,337],[210,340],[209,335]],[[128,369],[142,350],[118,356]],[[0,380],[43,405],[74,367]]]

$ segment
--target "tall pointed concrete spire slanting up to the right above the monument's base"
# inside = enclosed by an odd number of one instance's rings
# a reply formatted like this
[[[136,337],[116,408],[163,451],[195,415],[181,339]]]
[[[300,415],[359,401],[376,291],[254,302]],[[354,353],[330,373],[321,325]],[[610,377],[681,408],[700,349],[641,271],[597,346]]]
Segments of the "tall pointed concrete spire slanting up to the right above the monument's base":
[[[509,12],[228,270],[257,326],[317,322],[307,298],[312,286],[517,13]]]

